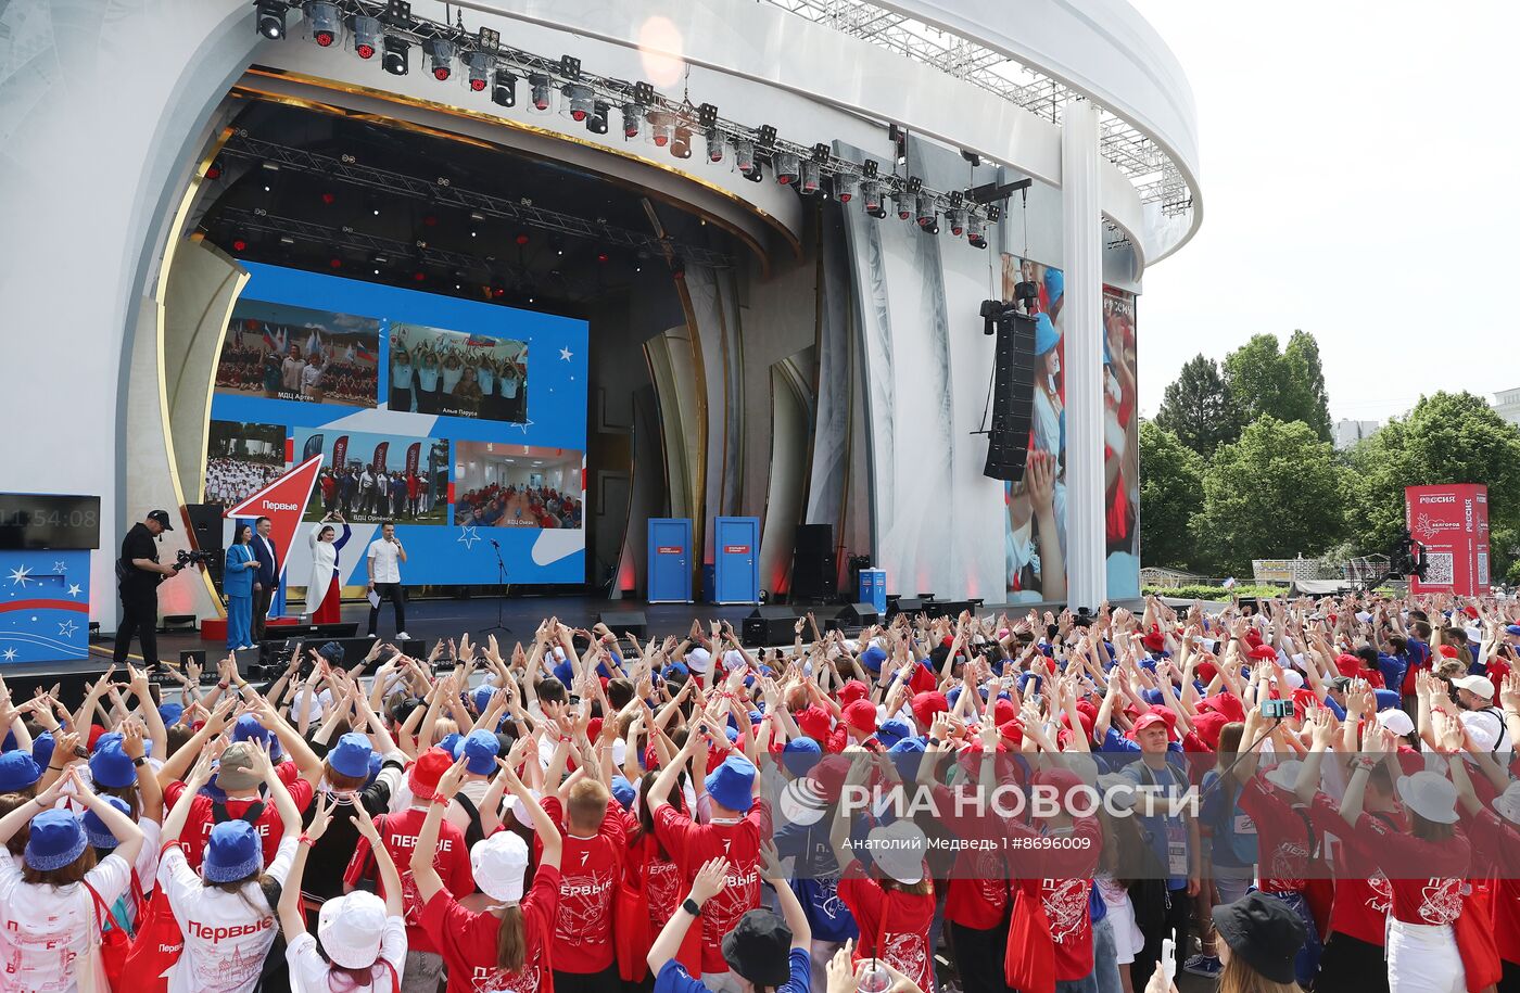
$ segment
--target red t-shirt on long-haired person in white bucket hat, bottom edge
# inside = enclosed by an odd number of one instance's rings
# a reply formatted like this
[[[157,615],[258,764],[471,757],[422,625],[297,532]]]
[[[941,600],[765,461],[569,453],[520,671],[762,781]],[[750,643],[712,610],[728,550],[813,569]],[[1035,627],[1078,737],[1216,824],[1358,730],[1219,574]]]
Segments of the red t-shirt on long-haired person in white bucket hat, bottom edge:
[[[423,908],[423,931],[448,967],[448,993],[553,993],[555,914],[559,909],[559,870],[540,865],[534,887],[523,894],[523,967],[515,973],[496,967],[496,938],[502,922],[468,911],[448,890],[439,890]]]

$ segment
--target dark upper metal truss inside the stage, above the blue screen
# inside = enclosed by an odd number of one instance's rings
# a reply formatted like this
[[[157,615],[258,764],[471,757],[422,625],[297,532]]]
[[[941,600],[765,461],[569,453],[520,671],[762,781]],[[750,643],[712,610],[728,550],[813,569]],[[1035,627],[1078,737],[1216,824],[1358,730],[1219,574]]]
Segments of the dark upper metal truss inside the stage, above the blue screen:
[[[274,141],[263,141],[239,131],[222,146],[223,156],[246,158],[255,162],[269,162],[281,170],[331,176],[342,182],[351,182],[369,190],[380,190],[392,196],[404,196],[429,203],[442,203],[462,211],[485,214],[488,217],[505,217],[506,220],[529,228],[553,231],[576,238],[590,238],[603,244],[644,249],[652,255],[679,257],[689,263],[710,266],[713,269],[733,269],[734,258],[725,252],[717,252],[699,244],[684,244],[670,238],[658,238],[641,231],[629,231],[602,220],[587,220],[561,211],[534,206],[527,199],[508,199],[491,193],[479,193],[454,185],[447,178],[421,179],[389,169],[363,166],[351,155],[331,156],[307,152]]]

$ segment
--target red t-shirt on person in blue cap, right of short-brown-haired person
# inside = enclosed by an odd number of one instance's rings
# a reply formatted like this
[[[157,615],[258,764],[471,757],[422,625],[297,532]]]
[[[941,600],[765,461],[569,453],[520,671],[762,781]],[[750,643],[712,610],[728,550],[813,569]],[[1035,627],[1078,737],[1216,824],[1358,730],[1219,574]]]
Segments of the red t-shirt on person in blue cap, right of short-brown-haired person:
[[[728,887],[702,905],[702,972],[728,972],[724,935],[760,906],[760,841],[771,838],[771,805],[754,800],[737,821],[693,823],[669,803],[655,811],[655,835],[690,885],[696,872],[719,855],[728,859]]]

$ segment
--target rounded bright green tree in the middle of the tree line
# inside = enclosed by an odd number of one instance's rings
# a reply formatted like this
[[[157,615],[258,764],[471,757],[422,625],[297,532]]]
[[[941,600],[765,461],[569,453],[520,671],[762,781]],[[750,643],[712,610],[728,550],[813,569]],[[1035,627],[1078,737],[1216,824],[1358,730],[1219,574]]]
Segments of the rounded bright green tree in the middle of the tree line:
[[[1213,563],[1318,556],[1345,531],[1345,477],[1328,442],[1301,421],[1259,418],[1204,469],[1204,509],[1189,530]],[[1143,515],[1142,515],[1143,516]]]

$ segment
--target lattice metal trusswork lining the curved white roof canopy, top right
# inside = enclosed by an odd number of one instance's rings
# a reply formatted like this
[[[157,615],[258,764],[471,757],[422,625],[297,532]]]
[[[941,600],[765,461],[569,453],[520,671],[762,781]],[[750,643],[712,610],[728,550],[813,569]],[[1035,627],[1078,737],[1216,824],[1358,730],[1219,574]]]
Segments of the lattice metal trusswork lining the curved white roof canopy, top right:
[[[1084,96],[1028,65],[923,21],[866,0],[763,0],[815,24],[895,52],[956,79],[996,93],[1056,125],[1070,97]],[[1099,105],[1104,158],[1117,166],[1145,203],[1166,214],[1193,210],[1193,194],[1181,170],[1155,141]]]

